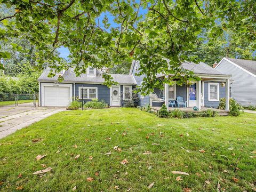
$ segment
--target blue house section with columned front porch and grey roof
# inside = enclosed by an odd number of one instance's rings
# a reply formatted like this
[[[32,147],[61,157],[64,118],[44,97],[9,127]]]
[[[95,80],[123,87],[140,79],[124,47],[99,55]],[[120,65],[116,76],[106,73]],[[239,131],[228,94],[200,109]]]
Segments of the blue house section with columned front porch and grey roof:
[[[145,76],[137,76],[140,64],[138,61],[133,61],[130,69],[130,75],[133,75],[137,85],[141,85]],[[220,98],[226,98],[226,110],[229,110],[229,81],[231,75],[228,73],[221,73],[220,71],[206,65],[203,62],[198,64],[191,62],[184,62],[182,68],[194,71],[196,76],[201,77],[201,81],[195,82],[191,86],[183,84],[179,86],[174,84],[170,86],[164,85],[164,90],[154,89],[154,94],[157,98],[164,98],[162,100],[152,101],[150,95],[139,95],[140,106],[150,105],[151,107],[159,107],[165,103],[170,106],[170,101],[175,101],[177,98],[182,98],[186,102],[186,107],[197,106],[199,109],[203,107],[217,108]],[[171,76],[171,75],[170,75]],[[164,77],[163,74],[158,74],[158,78]]]

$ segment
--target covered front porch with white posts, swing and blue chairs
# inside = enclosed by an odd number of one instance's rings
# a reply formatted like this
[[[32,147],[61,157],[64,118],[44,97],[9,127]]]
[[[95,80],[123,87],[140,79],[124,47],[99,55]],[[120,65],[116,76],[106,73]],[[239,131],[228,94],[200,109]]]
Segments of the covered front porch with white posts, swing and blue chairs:
[[[165,103],[168,110],[179,108],[184,112],[205,111],[212,108],[220,113],[229,111],[230,76],[197,74],[201,81],[179,86],[164,84],[164,90],[155,90],[156,97],[150,96],[150,107],[159,110]],[[168,77],[168,76],[165,76]],[[153,95],[154,96],[154,95]],[[226,109],[217,109],[220,99],[226,99]]]

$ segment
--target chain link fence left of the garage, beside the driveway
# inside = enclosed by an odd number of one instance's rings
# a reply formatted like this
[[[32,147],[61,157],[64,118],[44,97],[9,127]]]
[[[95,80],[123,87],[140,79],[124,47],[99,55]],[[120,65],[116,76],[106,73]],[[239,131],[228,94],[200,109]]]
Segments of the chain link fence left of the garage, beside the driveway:
[[[38,106],[38,94],[0,93],[1,106]]]

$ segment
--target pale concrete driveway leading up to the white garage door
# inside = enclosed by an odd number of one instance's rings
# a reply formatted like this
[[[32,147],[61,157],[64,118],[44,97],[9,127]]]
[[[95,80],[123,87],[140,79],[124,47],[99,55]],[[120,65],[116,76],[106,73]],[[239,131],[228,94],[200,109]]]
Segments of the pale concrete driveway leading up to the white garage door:
[[[65,107],[0,107],[0,139],[28,125],[66,110]]]

